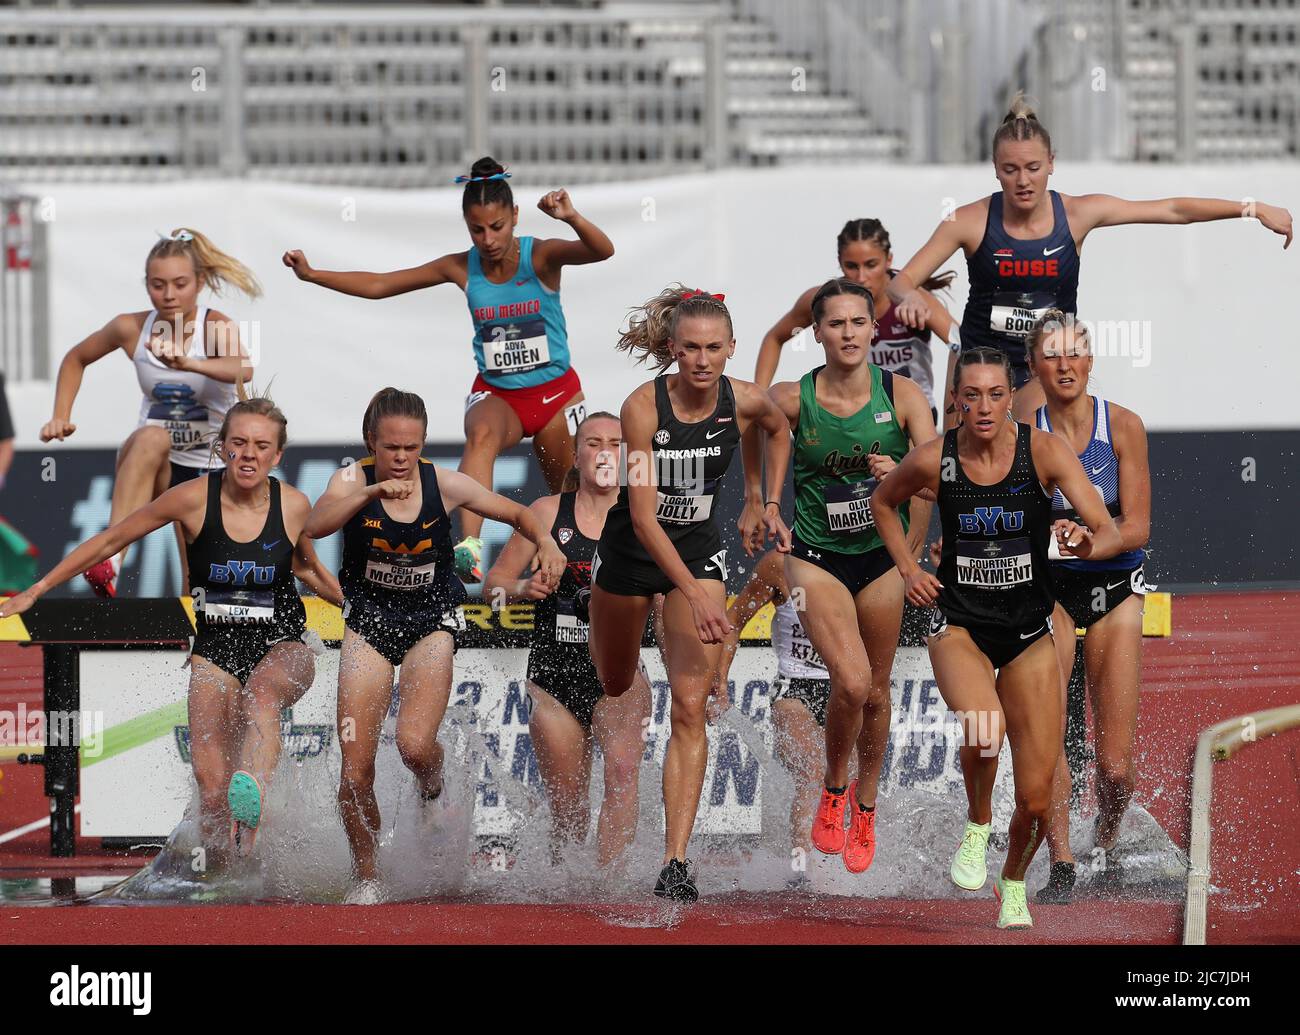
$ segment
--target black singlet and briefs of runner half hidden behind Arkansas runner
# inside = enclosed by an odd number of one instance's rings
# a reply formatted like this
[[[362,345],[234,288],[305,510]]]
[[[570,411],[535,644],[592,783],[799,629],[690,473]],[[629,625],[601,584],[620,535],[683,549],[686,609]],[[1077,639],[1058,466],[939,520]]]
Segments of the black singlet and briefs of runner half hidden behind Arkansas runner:
[[[584,728],[603,697],[601,680],[588,649],[586,606],[578,599],[592,585],[595,540],[589,540],[573,516],[577,493],[560,493],[551,524],[568,566],[554,593],[540,599],[533,611],[533,646],[528,653],[528,677],[573,713]]]

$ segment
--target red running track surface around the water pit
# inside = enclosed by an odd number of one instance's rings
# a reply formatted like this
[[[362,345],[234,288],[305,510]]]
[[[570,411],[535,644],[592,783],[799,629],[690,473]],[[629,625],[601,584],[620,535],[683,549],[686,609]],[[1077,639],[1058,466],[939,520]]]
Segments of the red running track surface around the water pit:
[[[12,662],[21,662],[14,670]],[[0,648],[0,707],[39,703],[39,654]],[[1300,594],[1179,597],[1174,635],[1148,640],[1136,800],[1182,848],[1192,750],[1221,719],[1300,700]],[[46,814],[40,770],[0,767],[0,832]],[[1300,943],[1300,732],[1214,768],[1209,941]],[[0,878],[68,872],[42,830],[0,845]],[[82,857],[78,872],[138,862]],[[124,909],[126,910],[124,913]],[[0,905],[0,941],[35,943],[1147,943],[1182,937],[1182,902],[1083,900],[1036,906],[1028,932],[993,927],[991,897],[966,901],[729,895],[659,904],[372,906]]]

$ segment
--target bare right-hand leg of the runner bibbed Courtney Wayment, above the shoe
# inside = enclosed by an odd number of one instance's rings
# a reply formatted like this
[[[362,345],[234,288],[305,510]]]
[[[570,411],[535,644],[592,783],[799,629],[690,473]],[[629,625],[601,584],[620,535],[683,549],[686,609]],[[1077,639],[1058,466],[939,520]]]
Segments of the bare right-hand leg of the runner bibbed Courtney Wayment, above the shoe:
[[[1015,778],[1015,813],[1008,831],[1005,880],[1024,880],[1046,833],[1052,776],[1063,753],[1061,667],[1052,638],[1044,636],[997,674]]]

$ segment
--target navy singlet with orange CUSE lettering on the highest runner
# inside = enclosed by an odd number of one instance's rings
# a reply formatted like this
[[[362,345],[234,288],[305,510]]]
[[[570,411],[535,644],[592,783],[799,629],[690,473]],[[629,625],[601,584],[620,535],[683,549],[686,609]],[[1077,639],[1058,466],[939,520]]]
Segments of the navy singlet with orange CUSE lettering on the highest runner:
[[[1053,307],[1075,311],[1079,252],[1061,195],[1049,194],[1052,233],[1034,241],[1006,233],[1002,192],[989,195],[984,239],[966,257],[971,289],[962,313],[962,348],[988,345],[1024,367],[1024,342],[1037,319]]]

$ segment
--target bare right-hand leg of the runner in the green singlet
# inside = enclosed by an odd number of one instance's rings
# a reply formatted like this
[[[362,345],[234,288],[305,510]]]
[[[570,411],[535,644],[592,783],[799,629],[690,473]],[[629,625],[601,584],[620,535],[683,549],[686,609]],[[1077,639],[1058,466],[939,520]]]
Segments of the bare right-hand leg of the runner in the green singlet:
[[[876,804],[876,785],[889,742],[889,722],[893,718],[889,675],[898,651],[902,599],[902,576],[897,568],[889,568],[854,601],[858,629],[871,663],[871,690],[862,707],[862,732],[858,733],[858,801],[868,807]]]

